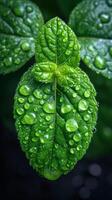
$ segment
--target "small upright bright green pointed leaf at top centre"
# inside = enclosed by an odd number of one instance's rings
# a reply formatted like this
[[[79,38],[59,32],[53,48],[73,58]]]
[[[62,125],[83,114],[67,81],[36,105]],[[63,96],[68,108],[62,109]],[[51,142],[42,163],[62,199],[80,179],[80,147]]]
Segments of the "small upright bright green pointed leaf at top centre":
[[[46,23],[39,32],[36,42],[36,61],[79,65],[79,43],[76,36],[66,24],[58,19]]]

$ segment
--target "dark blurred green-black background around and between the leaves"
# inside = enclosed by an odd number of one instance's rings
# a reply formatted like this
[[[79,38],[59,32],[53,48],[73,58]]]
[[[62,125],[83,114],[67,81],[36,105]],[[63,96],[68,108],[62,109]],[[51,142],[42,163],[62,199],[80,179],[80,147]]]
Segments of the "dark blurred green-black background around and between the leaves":
[[[68,22],[78,0],[35,0],[45,21],[54,16]],[[97,90],[99,117],[86,156],[75,169],[57,181],[39,177],[21,151],[13,120],[13,96],[21,75],[34,63],[30,60],[18,72],[0,76],[0,200],[112,199],[112,81],[96,75],[83,64]]]

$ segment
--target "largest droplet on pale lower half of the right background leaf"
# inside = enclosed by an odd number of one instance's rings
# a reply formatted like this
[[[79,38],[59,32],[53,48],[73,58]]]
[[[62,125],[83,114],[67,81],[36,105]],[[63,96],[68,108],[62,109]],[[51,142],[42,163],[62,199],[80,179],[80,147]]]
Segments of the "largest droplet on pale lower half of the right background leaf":
[[[96,56],[94,60],[94,65],[98,69],[105,69],[105,60],[100,56]]]

